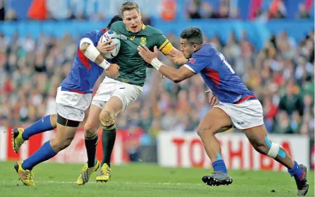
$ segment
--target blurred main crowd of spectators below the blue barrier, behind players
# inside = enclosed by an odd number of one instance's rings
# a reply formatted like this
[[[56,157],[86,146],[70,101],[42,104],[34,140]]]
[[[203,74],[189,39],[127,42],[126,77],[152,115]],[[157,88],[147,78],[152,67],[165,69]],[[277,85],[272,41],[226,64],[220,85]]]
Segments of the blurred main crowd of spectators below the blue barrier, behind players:
[[[179,49],[179,39],[168,38]],[[300,41],[285,32],[273,35],[262,51],[246,32],[240,40],[231,33],[227,44],[217,36],[207,40],[258,96],[269,132],[314,135],[314,31]],[[0,35],[0,126],[26,126],[56,112],[56,89],[71,69],[76,42],[69,35],[60,40]],[[152,137],[160,130],[193,132],[210,109],[206,89],[199,75],[175,84],[147,69],[143,93],[119,115],[117,128],[141,128]]]

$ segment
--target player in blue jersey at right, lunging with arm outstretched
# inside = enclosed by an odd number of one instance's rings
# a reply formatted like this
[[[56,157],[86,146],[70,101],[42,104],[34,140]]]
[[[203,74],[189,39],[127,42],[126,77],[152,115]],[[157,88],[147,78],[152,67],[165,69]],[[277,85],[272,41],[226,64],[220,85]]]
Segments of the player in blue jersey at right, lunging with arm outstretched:
[[[179,69],[160,62],[156,47],[151,52],[142,45],[138,46],[138,51],[146,62],[175,83],[200,74],[219,99],[219,104],[206,114],[197,128],[215,171],[213,175],[205,175],[203,182],[210,186],[230,185],[233,182],[222,160],[221,147],[215,134],[235,126],[244,132],[256,151],[287,167],[289,174],[296,180],[298,196],[307,194],[309,184],[306,166],[299,165],[282,146],[268,139],[260,101],[233,71],[224,55],[210,44],[204,43],[199,28],[191,27],[181,32],[181,51],[185,58],[189,58],[189,62]]]

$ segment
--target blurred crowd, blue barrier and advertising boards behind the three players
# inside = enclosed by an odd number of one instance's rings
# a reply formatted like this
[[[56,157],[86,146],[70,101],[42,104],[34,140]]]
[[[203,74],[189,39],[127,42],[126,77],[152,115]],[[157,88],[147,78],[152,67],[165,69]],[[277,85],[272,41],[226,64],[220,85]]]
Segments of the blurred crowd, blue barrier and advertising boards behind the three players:
[[[11,127],[26,127],[46,114],[56,113],[56,89],[72,67],[80,35],[105,28],[109,19],[119,13],[121,3],[121,0],[0,0],[1,146],[10,145],[6,139],[10,139],[7,131]],[[287,143],[293,157],[314,167],[314,1],[138,0],[136,3],[141,8],[143,23],[159,28],[177,49],[183,28],[201,28],[206,41],[225,55],[258,96],[271,139],[278,139],[282,146]],[[163,56],[161,60],[172,65]],[[99,78],[94,93],[104,77]],[[116,119],[119,135],[115,149],[121,149],[114,151],[117,164],[143,161],[159,162],[161,166],[210,166],[195,132],[210,110],[206,89],[199,75],[175,84],[161,79],[154,69],[147,69],[143,93]],[[238,135],[240,131],[236,129],[228,132],[236,137],[225,134],[220,139],[224,157],[235,161],[228,164],[230,168],[277,169],[257,162],[261,158],[248,159],[244,136]],[[48,133],[33,143],[42,144],[53,135]],[[82,136],[80,130],[71,147],[84,158],[84,145],[76,146],[84,142]],[[30,155],[36,150],[31,142],[19,156],[12,155],[10,148],[0,151],[0,160]],[[234,149],[227,145],[230,142],[235,144]],[[239,142],[244,150],[237,148]],[[235,150],[241,151],[241,155],[235,156],[239,153]],[[203,157],[206,162],[201,163]],[[65,158],[57,160],[81,161]],[[249,160],[253,160],[253,166],[247,165]]]

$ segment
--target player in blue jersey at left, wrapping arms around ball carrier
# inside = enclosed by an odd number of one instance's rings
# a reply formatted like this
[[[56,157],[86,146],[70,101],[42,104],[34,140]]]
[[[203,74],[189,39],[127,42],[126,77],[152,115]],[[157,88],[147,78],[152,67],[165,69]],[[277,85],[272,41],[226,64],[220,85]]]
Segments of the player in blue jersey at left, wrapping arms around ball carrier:
[[[12,146],[17,153],[21,144],[30,136],[57,128],[54,139],[44,143],[38,151],[26,160],[15,163],[15,170],[24,185],[35,186],[33,167],[51,159],[71,144],[80,122],[84,119],[84,111],[91,104],[93,86],[102,72],[105,70],[105,73],[111,78],[119,76],[118,65],[110,65],[103,55],[104,53],[111,53],[114,45],[109,44],[111,41],[102,43],[100,40],[111,24],[121,20],[120,16],[115,16],[107,28],[101,31],[89,31],[82,35],[69,76],[62,81],[57,89],[57,114],[48,115],[25,130],[23,128],[12,130]],[[93,139],[91,140],[93,141]],[[96,143],[97,141],[92,142],[92,144]],[[95,152],[96,147],[94,154]]]

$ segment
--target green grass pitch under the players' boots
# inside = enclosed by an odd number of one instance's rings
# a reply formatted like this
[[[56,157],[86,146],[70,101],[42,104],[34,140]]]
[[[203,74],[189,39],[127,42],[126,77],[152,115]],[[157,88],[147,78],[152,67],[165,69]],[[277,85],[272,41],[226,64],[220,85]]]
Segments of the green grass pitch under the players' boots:
[[[111,180],[79,186],[82,165],[39,164],[34,169],[35,187],[18,180],[13,162],[0,162],[0,196],[297,196],[294,178],[286,172],[229,171],[231,186],[209,187],[201,181],[211,169],[161,168],[155,164],[112,166]],[[314,196],[314,172],[307,172],[309,191]]]

